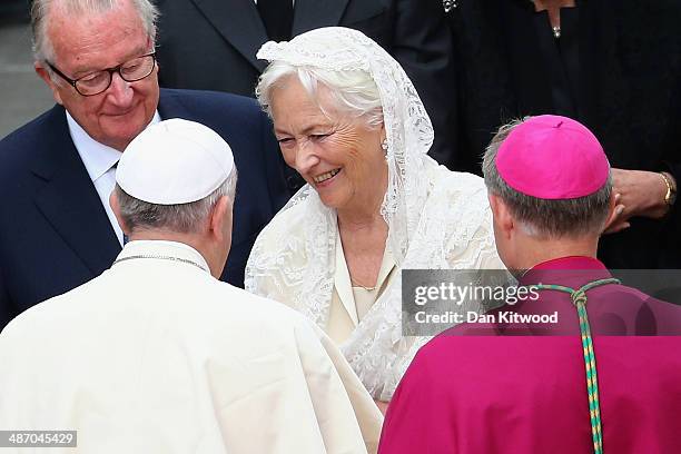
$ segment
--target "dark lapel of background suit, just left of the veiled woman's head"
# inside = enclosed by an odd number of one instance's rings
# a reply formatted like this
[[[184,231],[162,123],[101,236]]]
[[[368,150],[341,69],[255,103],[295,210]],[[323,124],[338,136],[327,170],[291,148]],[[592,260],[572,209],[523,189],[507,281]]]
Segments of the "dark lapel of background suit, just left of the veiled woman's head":
[[[254,0],[193,0],[196,7],[220,34],[234,46],[258,71],[266,67],[256,52],[267,41],[267,32]]]

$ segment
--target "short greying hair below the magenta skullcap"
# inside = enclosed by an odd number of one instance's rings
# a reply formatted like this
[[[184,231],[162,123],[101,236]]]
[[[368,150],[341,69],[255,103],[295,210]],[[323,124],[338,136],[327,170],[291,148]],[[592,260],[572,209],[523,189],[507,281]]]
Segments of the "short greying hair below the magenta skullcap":
[[[600,235],[610,213],[612,174],[598,191],[574,199],[549,200],[527,196],[511,188],[499,175],[496,154],[513,128],[529,120],[513,120],[499,128],[485,150],[483,175],[490,193],[499,196],[511,214],[521,221],[525,230],[542,238],[575,238],[583,235]]]

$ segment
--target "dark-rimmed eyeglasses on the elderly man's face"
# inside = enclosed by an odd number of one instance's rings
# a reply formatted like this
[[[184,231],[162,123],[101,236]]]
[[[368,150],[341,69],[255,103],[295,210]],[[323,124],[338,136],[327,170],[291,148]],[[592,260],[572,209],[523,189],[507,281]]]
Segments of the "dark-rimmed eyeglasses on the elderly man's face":
[[[71,79],[49,61],[46,62],[52,69],[52,71],[73,86],[76,91],[78,91],[80,95],[95,96],[106,91],[109,88],[114,72],[118,72],[120,78],[127,82],[135,82],[148,77],[151,72],[154,72],[154,68],[156,67],[156,52],[134,58],[132,60],[128,60],[115,68],[91,72],[79,79]]]

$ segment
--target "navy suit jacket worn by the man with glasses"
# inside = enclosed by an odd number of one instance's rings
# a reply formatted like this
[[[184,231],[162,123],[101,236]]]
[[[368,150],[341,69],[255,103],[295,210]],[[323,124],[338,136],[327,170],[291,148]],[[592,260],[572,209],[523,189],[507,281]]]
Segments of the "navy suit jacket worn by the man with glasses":
[[[260,229],[288,200],[272,125],[249,98],[161,90],[161,118],[185,118],[217,131],[238,169],[233,247],[223,280],[243,286]],[[0,328],[28,307],[107,269],[120,245],[55,106],[0,141]]]

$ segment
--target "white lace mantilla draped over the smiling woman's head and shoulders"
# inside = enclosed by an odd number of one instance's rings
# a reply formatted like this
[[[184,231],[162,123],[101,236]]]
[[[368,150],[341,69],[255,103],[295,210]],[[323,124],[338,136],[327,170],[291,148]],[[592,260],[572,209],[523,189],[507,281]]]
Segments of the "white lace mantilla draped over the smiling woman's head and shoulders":
[[[502,267],[482,179],[452,172],[426,155],[433,141],[431,120],[404,70],[378,45],[355,30],[323,28],[290,42],[268,42],[258,58],[372,75],[381,92],[388,142],[388,188],[381,214],[388,225],[386,245],[398,268]],[[306,185],[260,233],[246,266],[246,289],[286,303],[325,328],[336,230],[336,211]],[[468,309],[478,308],[462,307]],[[402,276],[396,273],[340,346],[368,392],[382,401],[391,399],[427,340],[403,337],[401,318]]]

